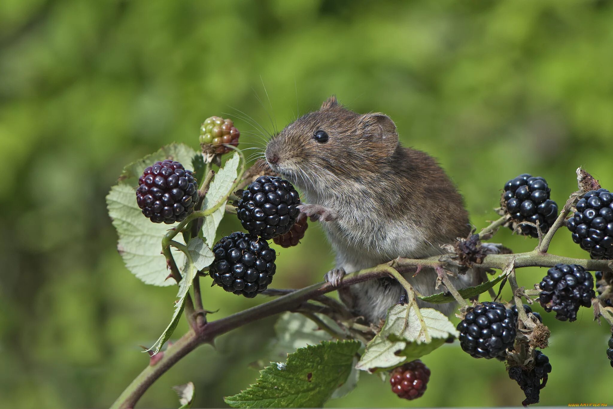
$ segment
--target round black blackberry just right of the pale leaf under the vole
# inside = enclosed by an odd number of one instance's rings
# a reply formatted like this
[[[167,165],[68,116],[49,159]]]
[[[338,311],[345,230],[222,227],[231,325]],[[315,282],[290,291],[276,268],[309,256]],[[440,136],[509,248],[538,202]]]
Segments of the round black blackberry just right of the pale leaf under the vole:
[[[500,302],[484,301],[457,326],[462,350],[475,358],[497,358],[513,348],[516,319]]]

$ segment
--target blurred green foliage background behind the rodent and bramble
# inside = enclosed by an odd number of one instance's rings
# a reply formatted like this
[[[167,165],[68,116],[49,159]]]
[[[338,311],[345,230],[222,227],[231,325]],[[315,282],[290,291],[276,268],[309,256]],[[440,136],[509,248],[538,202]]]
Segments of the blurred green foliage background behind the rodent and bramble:
[[[242,110],[272,131],[337,94],[380,111],[405,145],[428,151],[466,197],[472,222],[493,220],[509,178],[547,178],[562,204],[585,166],[613,187],[611,1],[60,1],[0,2],[0,407],[107,407],[148,363],[175,288],[146,286],[116,253],[104,196],[129,161],[169,142],[197,147],[199,124],[232,117],[242,146],[261,146]],[[264,91],[268,91],[270,102]],[[262,101],[262,103],[260,102]],[[250,151],[253,152],[253,151]],[[220,232],[237,230],[229,217]],[[535,240],[502,231],[515,251]],[[564,229],[557,254],[587,254]],[[281,251],[275,286],[321,280],[333,256],[315,224]],[[520,273],[530,287],[543,269]],[[225,316],[264,301],[208,288]],[[508,297],[508,293],[506,294]],[[543,313],[541,308],[536,310]],[[211,316],[211,319],[213,316]],[[554,372],[546,405],[613,403],[606,325],[544,315]],[[170,386],[193,381],[194,407],[253,382],[274,319],[202,346],[164,375],[140,407],[177,407]],[[186,331],[181,321],[175,334]],[[500,362],[457,343],[426,356],[424,397],[399,400],[362,375],[330,407],[519,405]]]

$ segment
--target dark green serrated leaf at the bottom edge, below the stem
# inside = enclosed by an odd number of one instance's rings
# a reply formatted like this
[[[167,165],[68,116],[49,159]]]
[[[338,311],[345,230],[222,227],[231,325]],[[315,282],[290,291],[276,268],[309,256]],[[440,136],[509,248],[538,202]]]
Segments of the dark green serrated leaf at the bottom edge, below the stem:
[[[335,389],[347,381],[358,341],[329,342],[300,348],[260,371],[255,384],[224,398],[234,408],[322,407]]]

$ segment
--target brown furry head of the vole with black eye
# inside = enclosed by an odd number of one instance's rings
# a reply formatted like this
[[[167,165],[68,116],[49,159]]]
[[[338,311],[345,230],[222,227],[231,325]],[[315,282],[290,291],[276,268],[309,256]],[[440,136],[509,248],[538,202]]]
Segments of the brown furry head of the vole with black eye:
[[[266,147],[270,167],[305,191],[324,191],[379,174],[398,148],[394,122],[361,115],[332,96],[287,125]]]

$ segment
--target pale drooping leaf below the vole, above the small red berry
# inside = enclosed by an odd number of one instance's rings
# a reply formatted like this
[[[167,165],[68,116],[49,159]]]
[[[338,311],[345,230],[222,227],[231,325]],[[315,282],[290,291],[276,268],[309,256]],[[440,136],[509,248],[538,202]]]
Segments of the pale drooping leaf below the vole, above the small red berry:
[[[454,324],[433,308],[418,308],[416,302],[396,304],[357,364],[357,369],[377,372],[413,361],[457,336]]]

